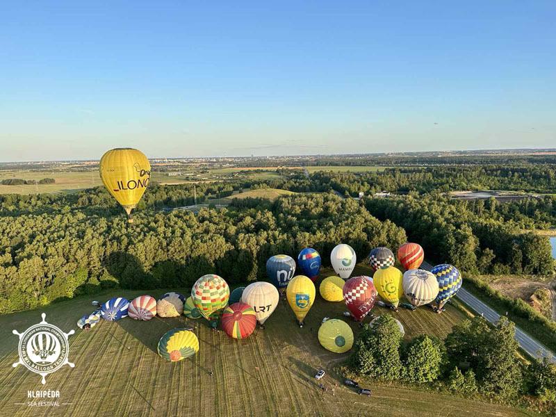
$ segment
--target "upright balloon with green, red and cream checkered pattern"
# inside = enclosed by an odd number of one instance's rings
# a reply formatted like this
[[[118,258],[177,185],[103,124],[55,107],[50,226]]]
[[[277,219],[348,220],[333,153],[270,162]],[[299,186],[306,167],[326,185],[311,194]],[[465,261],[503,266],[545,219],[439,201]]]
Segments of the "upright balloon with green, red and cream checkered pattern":
[[[222,315],[222,310],[228,304],[230,287],[218,275],[203,275],[191,288],[193,304],[199,313],[214,325],[215,320]]]

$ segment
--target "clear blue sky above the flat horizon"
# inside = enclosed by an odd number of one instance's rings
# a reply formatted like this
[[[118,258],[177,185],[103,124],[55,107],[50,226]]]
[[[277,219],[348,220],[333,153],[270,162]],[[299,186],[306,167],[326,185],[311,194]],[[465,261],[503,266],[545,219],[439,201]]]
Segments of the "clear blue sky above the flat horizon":
[[[556,1],[268,3],[2,2],[0,161],[556,147]]]

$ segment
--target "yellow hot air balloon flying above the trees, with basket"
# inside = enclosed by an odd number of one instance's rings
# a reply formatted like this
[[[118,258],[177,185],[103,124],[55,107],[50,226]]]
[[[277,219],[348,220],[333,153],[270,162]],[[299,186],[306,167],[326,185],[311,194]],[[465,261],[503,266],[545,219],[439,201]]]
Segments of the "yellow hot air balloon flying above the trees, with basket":
[[[129,222],[133,222],[131,210],[137,206],[151,178],[149,160],[137,149],[112,149],[100,159],[99,171],[102,183],[122,204]]]

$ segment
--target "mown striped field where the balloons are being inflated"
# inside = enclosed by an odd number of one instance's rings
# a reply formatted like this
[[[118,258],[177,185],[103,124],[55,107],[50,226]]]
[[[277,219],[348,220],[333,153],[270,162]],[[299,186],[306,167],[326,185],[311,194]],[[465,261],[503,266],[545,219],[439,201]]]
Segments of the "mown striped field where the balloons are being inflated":
[[[368,269],[358,267],[356,273]],[[332,275],[325,270],[322,277]],[[321,278],[322,278],[321,277]],[[173,291],[179,288],[172,288]],[[187,293],[186,288],[181,288]],[[165,290],[148,291],[159,297]],[[342,318],[343,302],[325,302],[318,295],[300,329],[286,302],[280,302],[266,322],[243,341],[224,332],[212,332],[204,319],[154,318],[137,322],[124,318],[117,322],[101,320],[83,332],[76,321],[90,313],[92,300],[108,297],[135,297],[144,291],[114,290],[95,297],[80,297],[0,316],[0,409],[5,416],[523,416],[523,411],[498,405],[452,398],[437,393],[414,392],[375,384],[373,396],[362,397],[342,386],[334,369],[347,354],[328,352],[318,343],[317,332],[323,317]],[[390,310],[375,306],[375,315]],[[12,329],[23,332],[40,322],[40,313],[70,336],[70,361],[40,376],[17,362],[18,338]],[[465,314],[448,305],[441,316],[429,309],[393,313],[404,325],[406,338],[422,332],[443,337]],[[369,318],[366,318],[368,322]],[[349,322],[357,334],[359,327]],[[194,325],[200,350],[195,357],[170,363],[156,354],[156,345],[165,332],[183,325]],[[258,367],[260,370],[256,370]],[[325,369],[323,382],[330,388],[338,383],[336,395],[325,394],[313,375]],[[213,376],[210,373],[213,372]],[[59,407],[28,407],[28,390],[60,391]],[[24,403],[25,405],[16,405]],[[65,405],[62,405],[65,404]]]

